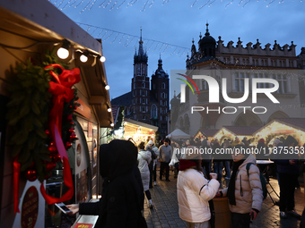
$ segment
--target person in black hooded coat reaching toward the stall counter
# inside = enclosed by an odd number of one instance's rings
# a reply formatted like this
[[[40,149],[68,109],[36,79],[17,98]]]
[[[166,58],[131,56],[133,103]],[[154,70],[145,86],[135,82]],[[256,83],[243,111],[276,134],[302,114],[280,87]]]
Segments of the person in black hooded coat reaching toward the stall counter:
[[[143,190],[134,174],[137,148],[126,140],[114,139],[100,146],[100,175],[107,180],[99,202],[67,205],[73,214],[99,215],[101,227],[146,227]]]

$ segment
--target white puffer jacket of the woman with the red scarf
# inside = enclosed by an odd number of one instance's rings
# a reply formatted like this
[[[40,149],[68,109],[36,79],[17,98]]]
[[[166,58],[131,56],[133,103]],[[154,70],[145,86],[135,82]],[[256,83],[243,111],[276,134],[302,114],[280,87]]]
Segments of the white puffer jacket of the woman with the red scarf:
[[[204,174],[195,169],[179,171],[177,195],[180,218],[189,223],[203,223],[210,220],[208,201],[216,195],[219,185],[216,180],[208,182]],[[203,186],[205,187],[202,188]]]

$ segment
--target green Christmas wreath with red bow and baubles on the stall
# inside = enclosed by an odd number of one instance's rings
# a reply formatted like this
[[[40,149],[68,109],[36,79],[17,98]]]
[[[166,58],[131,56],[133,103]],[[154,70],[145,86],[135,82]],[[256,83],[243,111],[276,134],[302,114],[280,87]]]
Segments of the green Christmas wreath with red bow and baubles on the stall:
[[[81,79],[79,69],[70,71],[65,68],[66,65],[57,62],[54,52],[48,52],[43,63],[38,64],[30,59],[15,69],[15,79],[9,87],[11,100],[6,116],[13,129],[10,145],[14,157],[15,212],[19,212],[20,173],[30,182],[37,179],[43,182],[51,176],[51,171],[60,161],[66,167],[64,180],[69,188],[67,193],[73,196],[72,176],[65,150],[76,139],[73,122],[76,117],[73,112],[78,97],[76,89],[71,87]],[[65,146],[61,147],[61,144]],[[51,200],[43,184],[41,186],[41,193],[49,203]],[[68,197],[65,195],[65,198]]]

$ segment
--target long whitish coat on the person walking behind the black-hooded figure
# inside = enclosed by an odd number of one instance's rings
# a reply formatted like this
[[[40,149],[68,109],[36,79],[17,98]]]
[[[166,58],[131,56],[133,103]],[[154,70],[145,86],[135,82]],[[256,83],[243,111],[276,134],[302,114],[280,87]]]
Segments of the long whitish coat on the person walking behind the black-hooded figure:
[[[139,162],[138,168],[141,173],[143,188],[149,190],[149,168],[148,164],[152,161],[152,153],[148,150],[141,149],[137,154],[137,160]]]

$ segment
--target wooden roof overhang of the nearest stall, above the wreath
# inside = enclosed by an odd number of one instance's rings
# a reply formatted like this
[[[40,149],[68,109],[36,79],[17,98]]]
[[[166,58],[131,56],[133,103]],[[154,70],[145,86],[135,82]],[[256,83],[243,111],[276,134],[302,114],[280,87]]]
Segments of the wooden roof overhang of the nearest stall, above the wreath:
[[[28,38],[27,45],[17,43],[14,47],[53,46],[66,39],[71,43],[71,50],[81,49],[92,55],[102,55],[101,43],[48,1],[0,1],[0,30]],[[1,46],[11,44],[12,40],[2,38]],[[104,63],[96,61],[93,67],[75,66],[82,72],[84,85],[89,91],[89,104],[98,116],[100,126],[110,127],[113,117],[111,112],[107,112],[111,104],[109,91],[105,89],[108,83]]]

